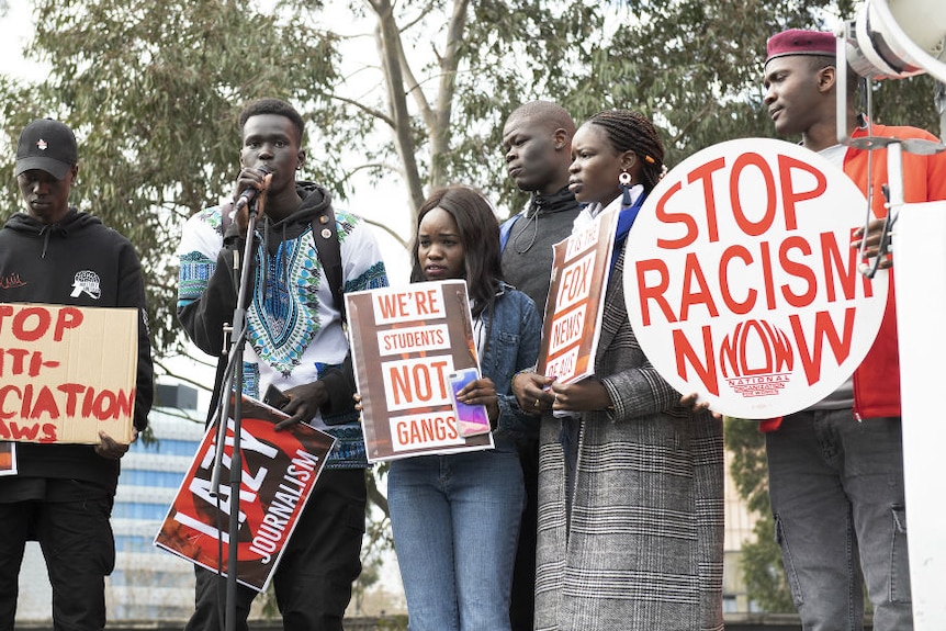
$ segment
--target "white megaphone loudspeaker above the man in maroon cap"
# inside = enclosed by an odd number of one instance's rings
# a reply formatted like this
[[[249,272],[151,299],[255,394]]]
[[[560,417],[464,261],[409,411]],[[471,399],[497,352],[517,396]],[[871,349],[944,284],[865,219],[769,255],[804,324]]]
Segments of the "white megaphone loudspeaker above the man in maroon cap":
[[[866,0],[847,42],[852,69],[870,79],[928,72],[946,83],[946,10],[943,0]]]

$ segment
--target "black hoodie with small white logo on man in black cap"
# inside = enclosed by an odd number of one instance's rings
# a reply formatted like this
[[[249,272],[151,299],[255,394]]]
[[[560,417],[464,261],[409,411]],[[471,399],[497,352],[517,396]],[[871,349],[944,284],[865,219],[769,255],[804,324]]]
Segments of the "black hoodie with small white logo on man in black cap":
[[[98,288],[79,288],[77,280],[88,272],[98,277]],[[102,225],[98,217],[76,209],[69,209],[63,219],[49,225],[16,213],[0,229],[0,303],[137,307],[142,317],[134,424],[138,430],[147,426],[154,370],[142,266],[128,239]],[[13,477],[83,480],[113,493],[117,484],[119,462],[97,455],[88,444],[21,442],[16,460],[19,475]],[[5,497],[5,480],[9,478],[0,477],[0,502],[10,500]]]

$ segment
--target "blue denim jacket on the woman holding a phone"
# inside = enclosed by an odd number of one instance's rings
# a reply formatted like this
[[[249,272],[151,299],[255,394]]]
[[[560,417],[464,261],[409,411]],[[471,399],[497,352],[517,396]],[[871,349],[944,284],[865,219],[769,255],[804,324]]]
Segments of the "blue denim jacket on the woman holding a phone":
[[[494,436],[538,437],[539,417],[519,409],[511,393],[513,375],[534,367],[539,357],[542,320],[536,304],[525,293],[500,283],[492,311],[488,306],[484,308],[481,318],[489,338],[480,357],[480,371],[493,380],[499,397],[499,420]]]

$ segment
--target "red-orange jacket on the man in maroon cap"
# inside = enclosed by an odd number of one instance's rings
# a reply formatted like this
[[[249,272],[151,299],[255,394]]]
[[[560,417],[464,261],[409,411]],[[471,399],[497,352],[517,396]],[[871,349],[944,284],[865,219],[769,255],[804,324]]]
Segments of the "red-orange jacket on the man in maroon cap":
[[[938,139],[916,127],[889,127],[872,125],[872,135],[894,138]],[[867,135],[866,127],[857,128],[853,137]],[[854,180],[860,191],[867,194],[866,149],[848,148],[844,156],[844,172]],[[881,187],[888,183],[887,149],[875,149],[870,157],[874,171],[874,214],[887,215],[886,199]],[[917,156],[903,151],[903,200],[906,203],[946,200],[946,153],[933,156]],[[854,415],[860,418],[900,416],[900,354],[897,343],[897,309],[894,306],[893,269],[890,270],[890,290],[887,294],[887,309],[880,323],[880,330],[874,346],[864,361],[854,371]],[[764,420],[763,431],[778,429],[781,418]]]

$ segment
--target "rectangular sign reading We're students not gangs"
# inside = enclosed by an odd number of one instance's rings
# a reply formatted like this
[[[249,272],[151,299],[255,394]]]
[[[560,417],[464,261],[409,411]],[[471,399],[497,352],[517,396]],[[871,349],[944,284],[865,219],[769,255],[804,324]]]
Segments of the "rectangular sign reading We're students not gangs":
[[[368,460],[489,449],[462,438],[447,375],[478,368],[462,280],[345,294]]]

